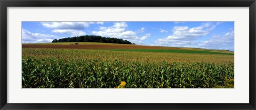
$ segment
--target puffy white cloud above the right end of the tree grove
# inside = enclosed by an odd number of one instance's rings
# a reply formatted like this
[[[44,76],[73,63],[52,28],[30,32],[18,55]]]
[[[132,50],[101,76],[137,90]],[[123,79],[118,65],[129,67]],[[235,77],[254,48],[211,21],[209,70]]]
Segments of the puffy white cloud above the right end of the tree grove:
[[[115,22],[113,26],[100,27],[100,31],[92,31],[92,34],[110,38],[124,39],[135,44],[141,43],[138,41],[139,37],[134,31],[126,30],[127,26],[128,25],[125,22]]]

